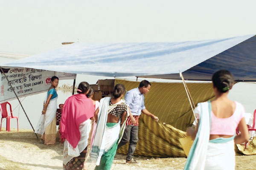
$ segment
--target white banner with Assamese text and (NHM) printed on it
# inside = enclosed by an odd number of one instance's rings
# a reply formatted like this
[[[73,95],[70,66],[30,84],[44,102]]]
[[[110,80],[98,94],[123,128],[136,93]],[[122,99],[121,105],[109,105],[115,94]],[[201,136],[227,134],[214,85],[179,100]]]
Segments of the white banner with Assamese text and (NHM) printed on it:
[[[18,97],[47,91],[51,85],[51,77],[55,76],[55,71],[34,68],[2,67],[2,69],[9,82],[1,71],[0,102],[15,99],[13,91]],[[58,75],[62,75],[60,79],[76,79],[76,74],[58,73]]]

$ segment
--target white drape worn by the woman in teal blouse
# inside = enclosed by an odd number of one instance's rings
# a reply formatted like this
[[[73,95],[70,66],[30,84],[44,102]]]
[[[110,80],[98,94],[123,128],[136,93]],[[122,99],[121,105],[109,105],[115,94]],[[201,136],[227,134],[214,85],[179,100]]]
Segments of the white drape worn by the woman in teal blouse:
[[[49,126],[53,121],[53,119],[55,118],[56,111],[57,111],[57,99],[58,97],[50,100],[49,105],[47,106],[46,113],[40,116],[38,125],[35,129],[35,133],[39,133],[43,135],[46,127]],[[46,95],[46,98],[44,99],[44,103],[46,103],[46,101],[47,101],[47,95]]]

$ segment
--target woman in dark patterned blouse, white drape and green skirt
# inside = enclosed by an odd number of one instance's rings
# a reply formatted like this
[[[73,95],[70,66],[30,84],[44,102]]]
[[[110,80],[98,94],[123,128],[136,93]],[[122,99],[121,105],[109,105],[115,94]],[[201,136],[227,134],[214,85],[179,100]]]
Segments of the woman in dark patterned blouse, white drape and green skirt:
[[[97,122],[91,160],[96,160],[95,170],[110,170],[116,155],[117,146],[125,130],[128,117],[128,106],[122,96],[125,86],[117,84],[113,90],[113,97],[100,100],[99,108],[95,111]]]

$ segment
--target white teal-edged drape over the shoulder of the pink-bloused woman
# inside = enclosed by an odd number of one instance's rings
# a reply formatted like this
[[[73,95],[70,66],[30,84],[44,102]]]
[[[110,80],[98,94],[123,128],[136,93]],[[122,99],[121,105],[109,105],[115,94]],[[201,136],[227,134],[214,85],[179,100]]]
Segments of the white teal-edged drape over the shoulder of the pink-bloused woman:
[[[194,143],[189,151],[184,170],[204,170],[207,147],[210,136],[210,102],[198,103],[201,107],[201,115]]]

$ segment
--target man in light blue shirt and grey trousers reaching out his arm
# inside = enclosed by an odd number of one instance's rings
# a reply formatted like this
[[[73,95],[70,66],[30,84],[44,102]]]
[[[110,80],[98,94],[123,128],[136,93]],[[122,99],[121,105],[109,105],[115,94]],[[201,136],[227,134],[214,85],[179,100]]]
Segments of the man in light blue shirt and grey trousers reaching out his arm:
[[[118,145],[118,148],[130,141],[128,153],[126,157],[126,163],[137,163],[134,159],[134,151],[138,141],[138,129],[140,114],[144,113],[147,116],[151,116],[152,119],[158,121],[158,117],[150,113],[144,105],[144,94],[147,94],[150,90],[151,84],[147,80],[140,82],[138,88],[131,89],[125,94],[125,102],[130,109],[131,115],[126,121],[126,127],[122,140]]]

